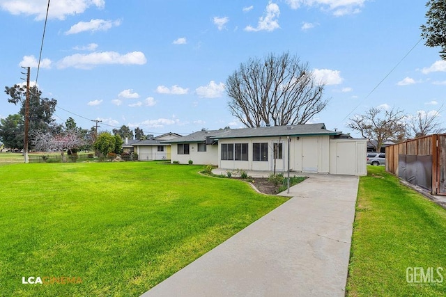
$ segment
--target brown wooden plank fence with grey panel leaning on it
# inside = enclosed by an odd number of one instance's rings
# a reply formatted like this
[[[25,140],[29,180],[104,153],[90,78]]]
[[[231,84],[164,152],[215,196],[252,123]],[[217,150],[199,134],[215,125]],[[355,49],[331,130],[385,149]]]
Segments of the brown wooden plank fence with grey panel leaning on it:
[[[385,170],[433,195],[446,195],[446,134],[385,147]]]

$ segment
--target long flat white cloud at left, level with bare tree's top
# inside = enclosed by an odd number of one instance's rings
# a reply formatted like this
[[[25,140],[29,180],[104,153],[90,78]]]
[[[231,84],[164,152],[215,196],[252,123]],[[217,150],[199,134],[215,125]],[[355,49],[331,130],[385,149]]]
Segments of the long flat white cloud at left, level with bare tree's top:
[[[91,54],[66,56],[57,62],[57,67],[60,69],[67,67],[91,69],[96,65],[144,65],[146,62],[146,56],[141,51],[132,51],[128,54],[119,54],[116,51],[95,51]]]

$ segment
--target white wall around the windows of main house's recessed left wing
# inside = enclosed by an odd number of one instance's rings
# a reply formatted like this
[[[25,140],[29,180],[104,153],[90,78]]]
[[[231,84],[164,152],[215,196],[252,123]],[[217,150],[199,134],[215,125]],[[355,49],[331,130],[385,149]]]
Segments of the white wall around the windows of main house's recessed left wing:
[[[206,145],[206,152],[199,152],[198,143],[189,143],[189,154],[178,154],[178,143],[171,145],[172,163],[178,161],[181,164],[187,164],[189,160],[192,160],[194,164],[217,165],[218,156],[218,145]]]

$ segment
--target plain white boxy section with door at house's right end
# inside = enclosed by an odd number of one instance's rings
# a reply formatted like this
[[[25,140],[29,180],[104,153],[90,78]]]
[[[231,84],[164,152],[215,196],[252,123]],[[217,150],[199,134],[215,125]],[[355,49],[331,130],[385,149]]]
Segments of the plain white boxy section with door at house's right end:
[[[367,175],[367,139],[330,139],[330,174]]]

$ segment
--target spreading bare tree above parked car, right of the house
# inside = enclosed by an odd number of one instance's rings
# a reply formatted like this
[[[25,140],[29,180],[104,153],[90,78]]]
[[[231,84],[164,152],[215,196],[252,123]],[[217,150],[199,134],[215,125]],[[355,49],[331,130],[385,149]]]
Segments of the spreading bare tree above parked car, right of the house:
[[[380,152],[386,139],[402,141],[406,137],[406,124],[403,111],[399,109],[371,108],[364,115],[355,115],[347,127],[360,131],[363,138],[375,140],[376,151]]]

